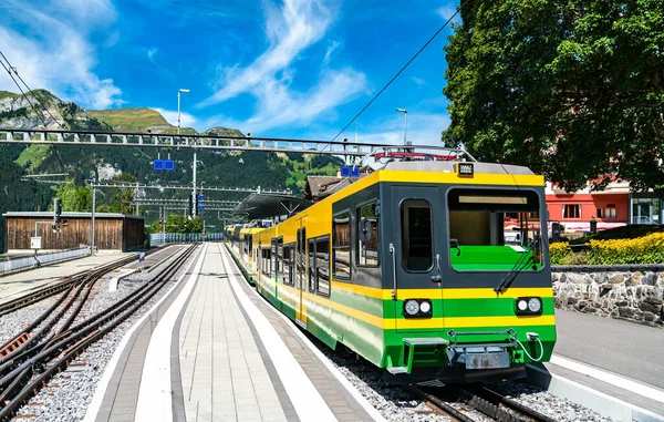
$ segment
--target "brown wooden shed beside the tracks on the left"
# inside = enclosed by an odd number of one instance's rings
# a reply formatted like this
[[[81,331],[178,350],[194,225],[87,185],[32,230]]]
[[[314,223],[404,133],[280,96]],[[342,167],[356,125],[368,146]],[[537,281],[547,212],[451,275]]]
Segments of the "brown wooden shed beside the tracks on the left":
[[[42,249],[71,249],[90,246],[91,213],[62,213],[60,233],[52,229],[53,212],[15,213],[2,215],[6,220],[6,248],[30,249],[30,238],[41,236]],[[145,241],[142,217],[113,214],[94,214],[94,244],[98,250],[131,250]]]

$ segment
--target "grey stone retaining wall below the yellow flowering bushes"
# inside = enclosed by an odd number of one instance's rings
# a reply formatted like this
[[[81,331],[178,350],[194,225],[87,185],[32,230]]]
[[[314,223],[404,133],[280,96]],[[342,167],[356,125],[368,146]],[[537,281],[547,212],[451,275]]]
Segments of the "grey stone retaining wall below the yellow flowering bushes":
[[[553,267],[557,308],[664,326],[664,268]]]

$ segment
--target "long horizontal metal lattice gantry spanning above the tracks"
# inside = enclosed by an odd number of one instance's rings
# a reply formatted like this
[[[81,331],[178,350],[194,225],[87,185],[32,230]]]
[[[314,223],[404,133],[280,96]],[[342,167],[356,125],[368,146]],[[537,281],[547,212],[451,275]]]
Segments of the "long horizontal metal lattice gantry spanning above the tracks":
[[[380,148],[403,145],[350,143],[314,140],[284,140],[277,137],[170,135],[156,133],[116,133],[86,131],[51,131],[0,128],[0,143],[138,146],[157,148],[272,151],[286,153],[335,154],[365,156]]]

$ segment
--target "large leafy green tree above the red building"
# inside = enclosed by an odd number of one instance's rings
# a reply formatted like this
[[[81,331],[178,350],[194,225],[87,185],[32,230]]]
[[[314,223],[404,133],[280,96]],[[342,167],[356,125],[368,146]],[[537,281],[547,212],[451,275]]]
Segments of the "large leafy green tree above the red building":
[[[660,0],[470,0],[461,19],[445,47],[446,146],[568,191],[613,173],[664,194]]]

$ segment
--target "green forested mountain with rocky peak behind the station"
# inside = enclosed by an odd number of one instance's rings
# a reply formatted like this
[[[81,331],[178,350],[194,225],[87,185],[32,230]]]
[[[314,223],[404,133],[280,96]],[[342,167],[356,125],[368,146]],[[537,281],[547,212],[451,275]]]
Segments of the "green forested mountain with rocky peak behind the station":
[[[43,104],[43,105],[42,105]],[[169,124],[153,109],[83,110],[73,102],[65,102],[46,90],[34,90],[27,96],[0,91],[0,128],[43,128],[103,131],[121,133],[175,134],[177,127]],[[180,128],[183,134],[197,134],[191,127]],[[210,127],[204,135],[243,136],[237,128]],[[153,169],[153,161],[175,161],[174,172]],[[333,156],[301,153],[269,153],[263,151],[226,152],[199,150],[197,154],[198,186],[239,186],[262,189],[291,188],[300,195],[308,174],[333,175],[343,162]],[[52,204],[56,186],[24,181],[34,174],[66,173],[76,186],[85,186],[95,174],[101,179],[123,175],[125,179],[146,185],[163,183],[191,184],[193,151],[187,148],[125,147],[104,145],[25,145],[0,144],[0,214],[7,210],[45,210]],[[128,174],[128,175],[127,175]],[[101,192],[97,205],[108,204],[112,193]],[[187,198],[185,191],[151,189],[147,198]],[[207,199],[240,200],[247,194],[205,191]],[[158,218],[158,208],[147,216],[148,222]],[[66,210],[66,209],[64,209]],[[175,213],[175,212],[174,212]],[[177,212],[179,213],[179,212]],[[219,227],[221,216],[206,212],[206,223]],[[0,225],[0,250],[4,239]]]

